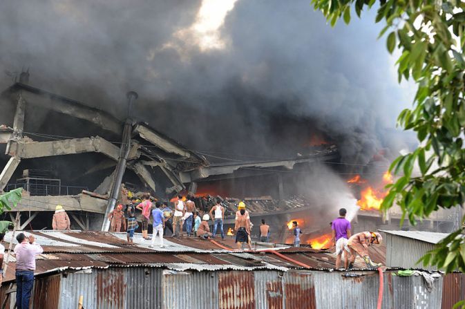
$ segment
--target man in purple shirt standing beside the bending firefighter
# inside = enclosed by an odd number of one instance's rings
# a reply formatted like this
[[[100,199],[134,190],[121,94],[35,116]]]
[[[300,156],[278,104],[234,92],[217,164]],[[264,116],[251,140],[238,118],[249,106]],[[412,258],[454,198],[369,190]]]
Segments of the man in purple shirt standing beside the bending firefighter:
[[[339,209],[339,218],[332,221],[332,243],[336,247],[336,269],[341,265],[342,253],[345,250],[344,266],[347,269],[349,263],[349,248],[347,246],[348,239],[350,238],[350,222],[345,219],[347,210],[345,208]]]

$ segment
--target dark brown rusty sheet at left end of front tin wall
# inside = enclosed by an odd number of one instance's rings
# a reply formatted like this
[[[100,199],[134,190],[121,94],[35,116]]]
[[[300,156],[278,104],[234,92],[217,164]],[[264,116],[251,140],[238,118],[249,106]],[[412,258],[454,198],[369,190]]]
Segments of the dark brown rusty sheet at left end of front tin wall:
[[[36,278],[32,292],[32,308],[59,308],[61,274]]]

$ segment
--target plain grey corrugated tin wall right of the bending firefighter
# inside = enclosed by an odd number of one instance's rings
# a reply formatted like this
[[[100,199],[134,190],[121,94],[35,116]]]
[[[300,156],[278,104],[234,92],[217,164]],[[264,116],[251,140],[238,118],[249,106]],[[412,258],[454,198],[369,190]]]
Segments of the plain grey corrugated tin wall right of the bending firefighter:
[[[424,270],[436,270],[417,264],[417,261],[426,252],[433,250],[433,243],[417,241],[412,238],[385,233],[386,235],[386,266],[395,268],[421,268]]]

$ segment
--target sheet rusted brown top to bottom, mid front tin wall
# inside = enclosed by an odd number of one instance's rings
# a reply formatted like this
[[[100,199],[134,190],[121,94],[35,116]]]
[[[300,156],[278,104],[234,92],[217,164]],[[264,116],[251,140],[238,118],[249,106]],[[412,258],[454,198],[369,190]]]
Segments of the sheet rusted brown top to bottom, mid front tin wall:
[[[218,273],[218,298],[220,309],[254,309],[254,272]]]

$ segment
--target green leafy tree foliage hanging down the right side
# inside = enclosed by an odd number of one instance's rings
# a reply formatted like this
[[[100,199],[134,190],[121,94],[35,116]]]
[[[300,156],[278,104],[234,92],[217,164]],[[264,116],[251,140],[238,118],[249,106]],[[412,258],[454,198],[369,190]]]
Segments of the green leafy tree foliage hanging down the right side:
[[[334,26],[343,17],[350,22],[352,6],[360,17],[375,0],[312,0]],[[401,112],[398,124],[417,133],[419,147],[400,156],[390,167],[398,179],[389,185],[381,209],[397,203],[410,223],[439,208],[465,202],[465,2],[431,0],[380,0],[375,21],[385,24],[386,47],[396,48],[399,82],[413,79],[417,93],[411,109]],[[420,175],[412,175],[414,165]],[[462,218],[462,224],[464,218]],[[421,260],[447,272],[465,272],[463,228],[441,241]]]

